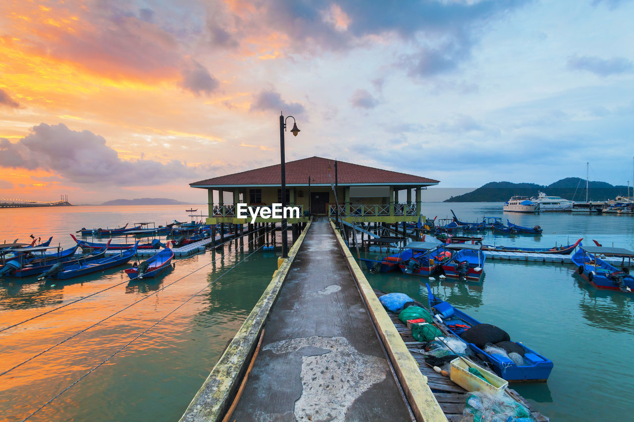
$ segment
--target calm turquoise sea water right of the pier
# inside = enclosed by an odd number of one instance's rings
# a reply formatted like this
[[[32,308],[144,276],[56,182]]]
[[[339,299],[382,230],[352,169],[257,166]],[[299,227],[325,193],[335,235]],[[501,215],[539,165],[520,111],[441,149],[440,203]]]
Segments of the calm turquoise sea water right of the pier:
[[[502,203],[424,203],[423,208],[430,218],[450,217],[451,208],[461,221],[481,221],[486,215],[544,229],[543,236],[485,234],[490,244],[546,247],[584,238],[585,244],[595,239],[634,250],[630,215],[522,215],[502,212]],[[434,281],[430,286],[475,319],[500,326],[512,340],[552,359],[555,368],[548,383],[512,384],[552,421],[631,420],[634,296],[597,290],[575,269],[572,264],[489,260],[481,283]],[[365,273],[374,288],[427,301],[427,278]]]

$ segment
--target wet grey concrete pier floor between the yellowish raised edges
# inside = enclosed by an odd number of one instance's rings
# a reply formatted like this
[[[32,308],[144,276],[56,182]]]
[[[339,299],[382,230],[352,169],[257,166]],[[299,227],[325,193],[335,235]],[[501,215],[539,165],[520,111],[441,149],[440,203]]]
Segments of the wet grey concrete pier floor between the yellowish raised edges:
[[[229,420],[413,420],[327,221],[295,256]]]

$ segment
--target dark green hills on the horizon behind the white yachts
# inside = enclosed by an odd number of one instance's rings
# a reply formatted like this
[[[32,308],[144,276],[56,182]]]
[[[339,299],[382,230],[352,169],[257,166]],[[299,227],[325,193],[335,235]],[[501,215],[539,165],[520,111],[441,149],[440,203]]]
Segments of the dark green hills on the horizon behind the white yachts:
[[[444,202],[505,202],[511,196],[537,196],[538,192],[561,196],[573,201],[586,200],[586,181],[579,177],[566,177],[548,186],[534,183],[489,182],[474,191],[451,196]],[[588,182],[588,200],[607,201],[617,195],[628,195],[627,186],[612,186],[606,182]]]

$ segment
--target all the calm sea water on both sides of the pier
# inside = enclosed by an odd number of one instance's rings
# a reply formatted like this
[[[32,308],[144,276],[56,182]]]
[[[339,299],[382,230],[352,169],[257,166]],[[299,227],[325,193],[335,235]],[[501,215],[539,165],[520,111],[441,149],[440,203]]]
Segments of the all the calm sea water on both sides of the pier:
[[[81,227],[186,221],[185,208],[189,207],[5,209],[0,210],[0,241],[53,235],[53,243],[69,247],[74,242],[68,233]],[[200,212],[206,206],[193,208]],[[482,215],[508,217],[523,226],[539,224],[545,233],[540,237],[487,234],[488,243],[552,246],[583,237],[584,242],[593,238],[604,246],[614,243],[634,249],[630,216],[503,214],[501,203],[425,203],[424,214],[444,218],[451,215],[450,208],[463,221],[479,221]],[[121,268],[55,286],[41,286],[34,278],[0,279],[0,329],[115,286],[0,332],[0,373],[146,298],[0,376],[0,420],[25,418],[191,298],[29,420],[178,419],[276,269],[279,248],[256,252],[247,258],[249,265],[226,272],[249,253],[246,245],[242,253],[225,246],[224,255],[205,252],[177,259],[174,269],[144,283],[127,283]],[[479,284],[436,281],[432,287],[456,307],[501,326],[514,340],[552,359],[555,368],[547,384],[514,388],[553,421],[630,420],[634,410],[631,295],[596,290],[576,275],[573,265],[489,261],[484,271]],[[380,290],[427,298],[425,278],[367,275]],[[167,286],[170,283],[174,284]]]

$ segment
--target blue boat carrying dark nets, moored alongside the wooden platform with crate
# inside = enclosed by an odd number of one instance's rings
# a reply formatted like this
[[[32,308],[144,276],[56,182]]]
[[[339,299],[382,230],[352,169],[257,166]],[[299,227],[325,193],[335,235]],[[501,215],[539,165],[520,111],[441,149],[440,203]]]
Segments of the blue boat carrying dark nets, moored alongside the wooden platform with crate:
[[[553,369],[553,362],[538,354],[533,349],[526,347],[523,343],[511,342],[508,340],[500,340],[494,344],[496,349],[504,352],[515,352],[521,357],[520,364],[510,359],[508,355],[500,353],[488,353],[485,350],[488,347],[484,345],[475,345],[467,342],[462,337],[470,328],[477,326],[480,321],[470,317],[461,310],[453,307],[449,302],[445,302],[436,297],[429,285],[427,285],[427,298],[429,299],[429,307],[436,315],[437,321],[443,324],[451,333],[455,334],[460,340],[467,343],[468,347],[482,360],[487,362],[489,366],[504,380],[507,381],[546,381]],[[500,330],[501,331],[501,330]],[[504,331],[501,331],[505,333]],[[506,334],[506,333],[505,333]],[[489,349],[491,350],[491,349]],[[517,358],[516,358],[517,359]],[[518,359],[519,360],[519,359]]]

